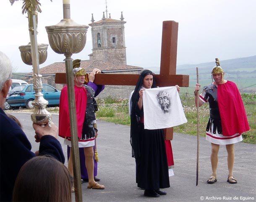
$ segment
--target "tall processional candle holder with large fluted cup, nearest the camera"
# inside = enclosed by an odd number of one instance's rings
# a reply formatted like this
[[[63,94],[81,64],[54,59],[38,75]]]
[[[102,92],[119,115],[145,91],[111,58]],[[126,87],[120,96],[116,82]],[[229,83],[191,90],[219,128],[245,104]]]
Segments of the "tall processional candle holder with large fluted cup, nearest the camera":
[[[71,124],[71,150],[73,156],[73,171],[76,201],[82,201],[81,171],[78,150],[78,135],[76,122],[76,103],[73,80],[73,59],[71,55],[81,52],[86,44],[87,25],[74,22],[70,16],[70,1],[63,0],[63,19],[53,26],[46,26],[50,47],[58,54],[65,56],[66,80],[68,86],[68,106]]]

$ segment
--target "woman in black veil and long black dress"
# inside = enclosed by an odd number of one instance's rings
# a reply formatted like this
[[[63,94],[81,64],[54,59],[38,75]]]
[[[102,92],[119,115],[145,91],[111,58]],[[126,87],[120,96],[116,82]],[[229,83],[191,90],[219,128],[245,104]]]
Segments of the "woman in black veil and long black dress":
[[[131,145],[136,160],[136,183],[145,189],[144,195],[166,195],[160,190],[170,187],[163,129],[144,129],[143,91],[156,88],[154,74],[143,70],[131,93]],[[154,117],[152,117],[153,119]]]

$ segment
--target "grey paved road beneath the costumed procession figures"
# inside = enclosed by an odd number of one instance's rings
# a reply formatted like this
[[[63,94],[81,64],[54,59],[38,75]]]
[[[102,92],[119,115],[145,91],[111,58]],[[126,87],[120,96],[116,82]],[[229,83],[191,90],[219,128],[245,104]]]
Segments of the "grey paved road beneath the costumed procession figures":
[[[32,143],[32,150],[38,150],[34,142],[30,113],[13,113],[23,124],[25,133]],[[58,115],[53,114],[53,122],[58,124]],[[256,145],[239,142],[235,144],[234,175],[238,184],[227,183],[227,152],[225,146],[219,150],[218,181],[206,184],[211,174],[210,143],[200,137],[199,184],[196,186],[196,136],[174,134],[174,176],[170,177],[170,188],[164,189],[166,196],[144,197],[144,191],[135,183],[135,161],[131,158],[130,127],[97,121],[99,137],[98,176],[106,187],[104,190],[87,189],[82,184],[84,202],[226,202],[256,199]],[[59,138],[61,144],[63,139]],[[65,157],[67,149],[63,146]],[[67,162],[66,162],[67,163]],[[66,164],[65,163],[65,164]],[[235,198],[234,198],[235,197]],[[73,194],[74,201],[74,194]]]

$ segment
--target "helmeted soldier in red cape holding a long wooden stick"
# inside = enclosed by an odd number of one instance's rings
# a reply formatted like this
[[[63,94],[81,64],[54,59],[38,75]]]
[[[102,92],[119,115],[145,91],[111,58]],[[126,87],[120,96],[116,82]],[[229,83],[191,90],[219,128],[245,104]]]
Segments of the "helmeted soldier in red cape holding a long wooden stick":
[[[204,86],[199,96],[199,106],[209,102],[210,117],[206,126],[206,140],[211,142],[212,174],[207,180],[208,184],[217,181],[217,164],[219,145],[226,145],[228,177],[227,182],[236,184],[233,176],[235,161],[234,144],[243,140],[242,133],[250,129],[246,111],[237,85],[229,80],[224,80],[224,71],[216,58],[216,66],[212,69],[213,82]],[[196,84],[195,94],[200,90]],[[197,96],[195,96],[197,105]]]

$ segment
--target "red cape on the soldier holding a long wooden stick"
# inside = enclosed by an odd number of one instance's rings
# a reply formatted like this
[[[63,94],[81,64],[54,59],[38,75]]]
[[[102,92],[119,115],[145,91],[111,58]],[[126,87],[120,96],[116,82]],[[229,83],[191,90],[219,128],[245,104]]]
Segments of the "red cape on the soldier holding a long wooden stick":
[[[232,81],[218,85],[217,96],[223,135],[230,137],[248,131],[250,127],[237,85]]]

